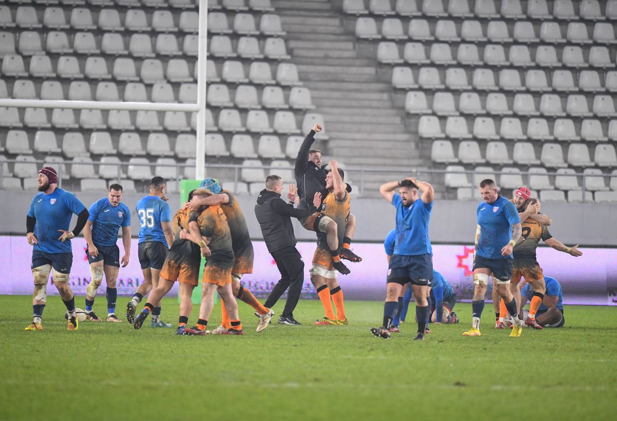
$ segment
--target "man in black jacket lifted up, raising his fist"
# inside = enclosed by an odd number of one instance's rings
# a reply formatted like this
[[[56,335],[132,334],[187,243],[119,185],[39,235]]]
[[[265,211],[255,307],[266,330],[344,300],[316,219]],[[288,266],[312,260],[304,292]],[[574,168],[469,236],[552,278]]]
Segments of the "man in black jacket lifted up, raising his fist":
[[[296,165],[294,167],[294,175],[296,176],[296,183],[298,186],[298,195],[300,197],[299,209],[307,209],[310,206],[310,201],[313,195],[319,191],[325,197],[326,195],[326,175],[328,170],[326,166],[321,166],[321,151],[318,149],[311,149],[313,142],[315,141],[315,133],[322,130],[320,124],[315,124],[313,130],[304,138],[304,142],[300,146],[298,156],[296,158]],[[347,192],[350,192],[351,188],[347,185]],[[345,235],[343,243],[339,244],[337,237],[337,226],[331,218],[327,217],[321,212],[313,212],[309,217],[302,219],[302,227],[309,231],[315,231],[317,233],[325,233],[328,240],[328,247],[334,259],[334,269],[343,274],[349,273],[346,265],[341,262],[341,259],[347,259],[352,262],[360,262],[362,258],[357,256],[350,249],[351,239],[354,236],[355,231],[355,217],[349,215],[347,224],[345,226]]]

